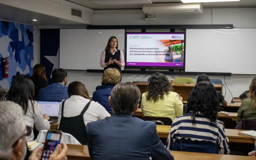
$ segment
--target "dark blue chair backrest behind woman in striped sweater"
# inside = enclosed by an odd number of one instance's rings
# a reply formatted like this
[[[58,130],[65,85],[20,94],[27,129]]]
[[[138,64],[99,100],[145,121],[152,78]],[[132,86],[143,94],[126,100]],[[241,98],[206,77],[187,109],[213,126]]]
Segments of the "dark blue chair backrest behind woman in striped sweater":
[[[210,141],[191,141],[189,139],[176,139],[173,144],[172,151],[219,154],[219,145]]]

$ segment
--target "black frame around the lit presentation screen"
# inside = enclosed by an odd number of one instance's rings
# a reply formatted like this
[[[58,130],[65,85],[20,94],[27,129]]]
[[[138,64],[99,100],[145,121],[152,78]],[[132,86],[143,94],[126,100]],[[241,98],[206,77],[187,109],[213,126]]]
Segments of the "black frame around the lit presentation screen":
[[[127,66],[127,34],[129,33],[183,33],[184,34],[184,58],[183,58],[183,67],[161,67],[161,66]],[[185,32],[125,32],[125,67],[126,68],[140,68],[140,69],[185,69],[185,58],[186,58],[186,31]]]

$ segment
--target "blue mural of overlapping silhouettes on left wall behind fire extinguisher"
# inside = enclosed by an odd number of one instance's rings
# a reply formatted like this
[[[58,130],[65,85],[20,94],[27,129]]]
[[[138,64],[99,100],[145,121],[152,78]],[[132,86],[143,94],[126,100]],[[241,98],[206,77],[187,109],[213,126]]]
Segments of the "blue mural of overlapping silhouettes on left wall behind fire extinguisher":
[[[0,21],[0,58],[8,57],[9,76],[3,77],[0,63],[0,85],[10,88],[16,75],[31,76],[34,66],[34,27],[32,25]]]

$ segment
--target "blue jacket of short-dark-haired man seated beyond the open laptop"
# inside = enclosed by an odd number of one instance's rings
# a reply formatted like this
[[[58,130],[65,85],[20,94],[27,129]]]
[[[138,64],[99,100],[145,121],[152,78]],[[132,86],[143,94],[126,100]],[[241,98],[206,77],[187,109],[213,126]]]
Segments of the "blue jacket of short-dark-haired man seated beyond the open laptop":
[[[68,87],[61,83],[53,83],[39,91],[39,100],[62,101],[68,99]]]

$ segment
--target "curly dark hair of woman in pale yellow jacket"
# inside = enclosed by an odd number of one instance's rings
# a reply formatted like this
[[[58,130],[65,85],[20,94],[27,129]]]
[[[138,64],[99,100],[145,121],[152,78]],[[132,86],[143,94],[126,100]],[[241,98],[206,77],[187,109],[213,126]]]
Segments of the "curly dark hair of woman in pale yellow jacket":
[[[173,91],[173,87],[165,75],[162,73],[154,73],[151,76],[147,91],[146,99],[148,101],[153,100],[155,103],[159,99],[163,99],[165,94],[168,95],[170,91]]]

